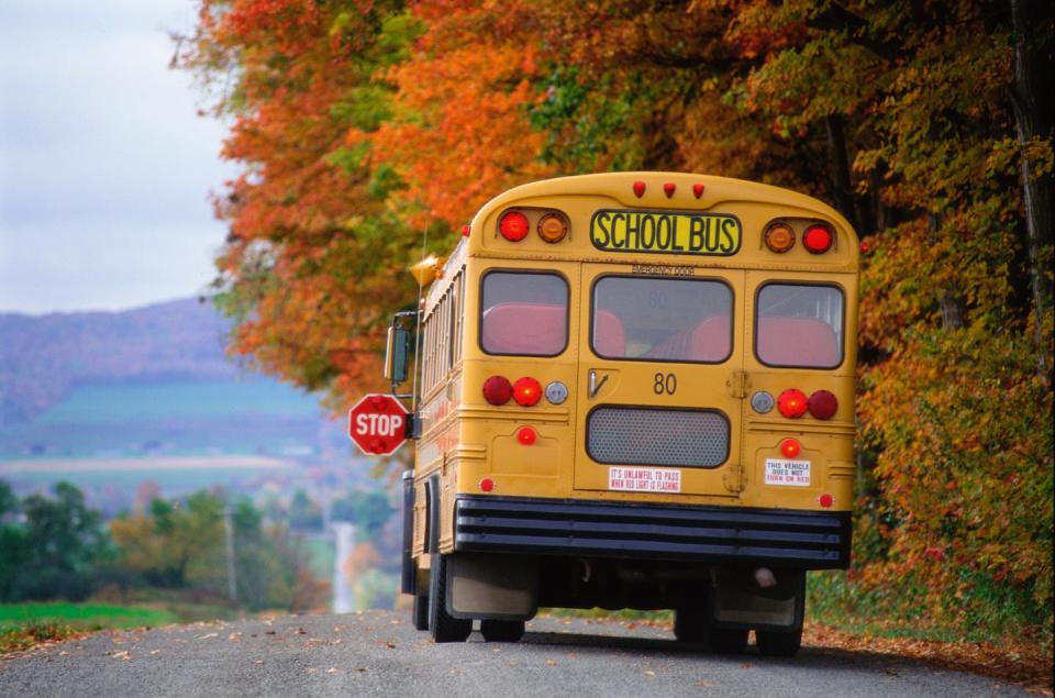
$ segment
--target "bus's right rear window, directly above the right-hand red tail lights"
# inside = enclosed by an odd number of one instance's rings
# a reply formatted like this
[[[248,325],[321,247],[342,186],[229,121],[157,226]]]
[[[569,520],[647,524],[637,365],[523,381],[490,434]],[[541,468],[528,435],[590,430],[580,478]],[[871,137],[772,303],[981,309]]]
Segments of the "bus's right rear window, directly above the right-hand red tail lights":
[[[755,302],[755,355],[767,366],[835,368],[843,363],[843,291],[766,284]]]

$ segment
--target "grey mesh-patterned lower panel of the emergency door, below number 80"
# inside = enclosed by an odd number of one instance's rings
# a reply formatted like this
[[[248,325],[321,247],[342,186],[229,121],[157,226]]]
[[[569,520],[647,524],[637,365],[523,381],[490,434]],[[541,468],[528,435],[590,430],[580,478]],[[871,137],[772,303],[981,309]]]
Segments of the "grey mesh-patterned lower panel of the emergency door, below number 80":
[[[586,434],[598,463],[710,468],[729,457],[729,420],[719,412],[602,407]]]

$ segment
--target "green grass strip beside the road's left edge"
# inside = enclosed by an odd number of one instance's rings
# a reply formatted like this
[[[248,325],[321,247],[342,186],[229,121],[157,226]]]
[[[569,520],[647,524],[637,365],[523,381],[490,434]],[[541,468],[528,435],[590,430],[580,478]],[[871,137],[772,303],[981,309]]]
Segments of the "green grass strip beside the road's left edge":
[[[26,650],[95,630],[167,625],[167,610],[108,603],[0,603],[0,653]]]

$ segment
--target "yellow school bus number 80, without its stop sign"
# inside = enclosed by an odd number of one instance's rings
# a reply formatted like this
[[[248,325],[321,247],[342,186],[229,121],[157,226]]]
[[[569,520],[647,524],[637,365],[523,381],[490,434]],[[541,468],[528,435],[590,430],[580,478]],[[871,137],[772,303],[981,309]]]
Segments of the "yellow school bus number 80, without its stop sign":
[[[386,361],[406,379],[420,322],[415,627],[517,641],[540,607],[674,609],[679,641],[795,654],[806,570],[849,562],[846,220],[735,179],[566,177],[496,197],[417,272]]]

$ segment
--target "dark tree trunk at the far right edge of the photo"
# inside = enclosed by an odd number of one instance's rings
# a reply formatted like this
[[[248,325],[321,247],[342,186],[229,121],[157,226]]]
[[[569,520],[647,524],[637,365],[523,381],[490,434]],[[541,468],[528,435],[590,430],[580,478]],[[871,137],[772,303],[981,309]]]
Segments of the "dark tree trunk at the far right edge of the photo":
[[[1014,109],[1019,145],[1034,139],[1047,139],[1051,146],[1053,118],[1052,38],[1053,10],[1050,0],[1011,0],[1011,26],[1014,35],[1014,84],[1011,106]],[[1025,208],[1026,250],[1029,251],[1030,286],[1036,313],[1034,342],[1037,369],[1051,380],[1048,350],[1044,345],[1043,325],[1052,312],[1052,280],[1045,266],[1052,254],[1052,176],[1039,176],[1037,163],[1023,153],[1022,201]]]

